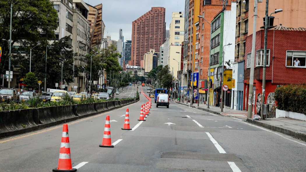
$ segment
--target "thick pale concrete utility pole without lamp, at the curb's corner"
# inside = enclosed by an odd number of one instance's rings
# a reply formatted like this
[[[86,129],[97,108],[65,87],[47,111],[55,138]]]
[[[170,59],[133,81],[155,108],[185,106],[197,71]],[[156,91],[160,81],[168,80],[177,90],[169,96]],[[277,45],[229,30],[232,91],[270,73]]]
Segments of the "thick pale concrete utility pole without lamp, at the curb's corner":
[[[257,22],[257,4],[258,0],[254,0],[254,24],[252,36],[252,52],[250,62],[250,80],[249,80],[249,94],[248,94],[248,118],[252,118],[252,101],[253,101],[253,84],[254,84],[254,61],[255,61],[255,43],[256,43],[256,22]]]

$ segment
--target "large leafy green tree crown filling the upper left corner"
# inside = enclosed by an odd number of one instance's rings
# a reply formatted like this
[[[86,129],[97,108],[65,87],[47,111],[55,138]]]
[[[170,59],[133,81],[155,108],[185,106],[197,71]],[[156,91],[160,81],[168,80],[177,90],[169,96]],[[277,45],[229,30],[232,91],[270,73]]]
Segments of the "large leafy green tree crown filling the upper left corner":
[[[54,30],[58,28],[58,14],[50,0],[2,0],[0,1],[0,37],[2,39],[9,41],[11,3],[14,3],[12,10],[12,45],[19,43],[22,47],[26,47],[23,48],[25,50],[38,43],[46,45],[47,38],[55,37]],[[2,41],[1,44],[4,52],[0,67],[2,71],[8,67],[6,61],[9,46],[6,41]]]

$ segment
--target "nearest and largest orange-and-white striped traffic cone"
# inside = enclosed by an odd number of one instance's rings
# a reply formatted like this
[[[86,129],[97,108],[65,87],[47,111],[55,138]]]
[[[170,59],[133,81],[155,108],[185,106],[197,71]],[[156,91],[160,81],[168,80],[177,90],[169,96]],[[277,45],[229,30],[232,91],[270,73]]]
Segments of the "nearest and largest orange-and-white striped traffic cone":
[[[68,124],[64,124],[61,148],[59,149],[58,167],[54,168],[52,171],[55,172],[76,171],[76,168],[72,168],[70,156],[71,155],[70,155],[69,136],[68,136]]]

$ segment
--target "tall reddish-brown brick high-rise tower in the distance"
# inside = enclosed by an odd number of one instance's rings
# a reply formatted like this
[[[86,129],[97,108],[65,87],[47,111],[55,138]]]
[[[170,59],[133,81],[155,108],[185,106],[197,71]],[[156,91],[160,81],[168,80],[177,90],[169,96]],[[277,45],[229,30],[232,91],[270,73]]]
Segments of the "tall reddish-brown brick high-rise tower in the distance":
[[[140,66],[144,54],[150,49],[159,50],[165,41],[166,9],[152,7],[150,11],[132,22],[132,48],[129,65]]]

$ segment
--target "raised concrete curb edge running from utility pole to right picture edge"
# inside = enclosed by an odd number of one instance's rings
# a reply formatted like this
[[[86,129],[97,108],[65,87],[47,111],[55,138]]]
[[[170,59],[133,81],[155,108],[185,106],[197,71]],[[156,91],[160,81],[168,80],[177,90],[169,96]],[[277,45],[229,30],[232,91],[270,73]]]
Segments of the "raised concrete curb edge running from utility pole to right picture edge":
[[[296,131],[293,131],[293,130],[290,130],[290,129],[285,129],[285,128],[278,127],[278,126],[275,126],[275,125],[266,124],[266,123],[260,122],[258,120],[253,120],[251,118],[247,118],[247,122],[251,123],[251,124],[254,124],[254,125],[264,127],[266,129],[270,129],[272,131],[283,133],[283,134],[286,134],[288,136],[292,136],[292,137],[295,137],[295,138],[306,141],[306,134],[304,134],[304,133],[299,133],[299,132],[296,132]]]

